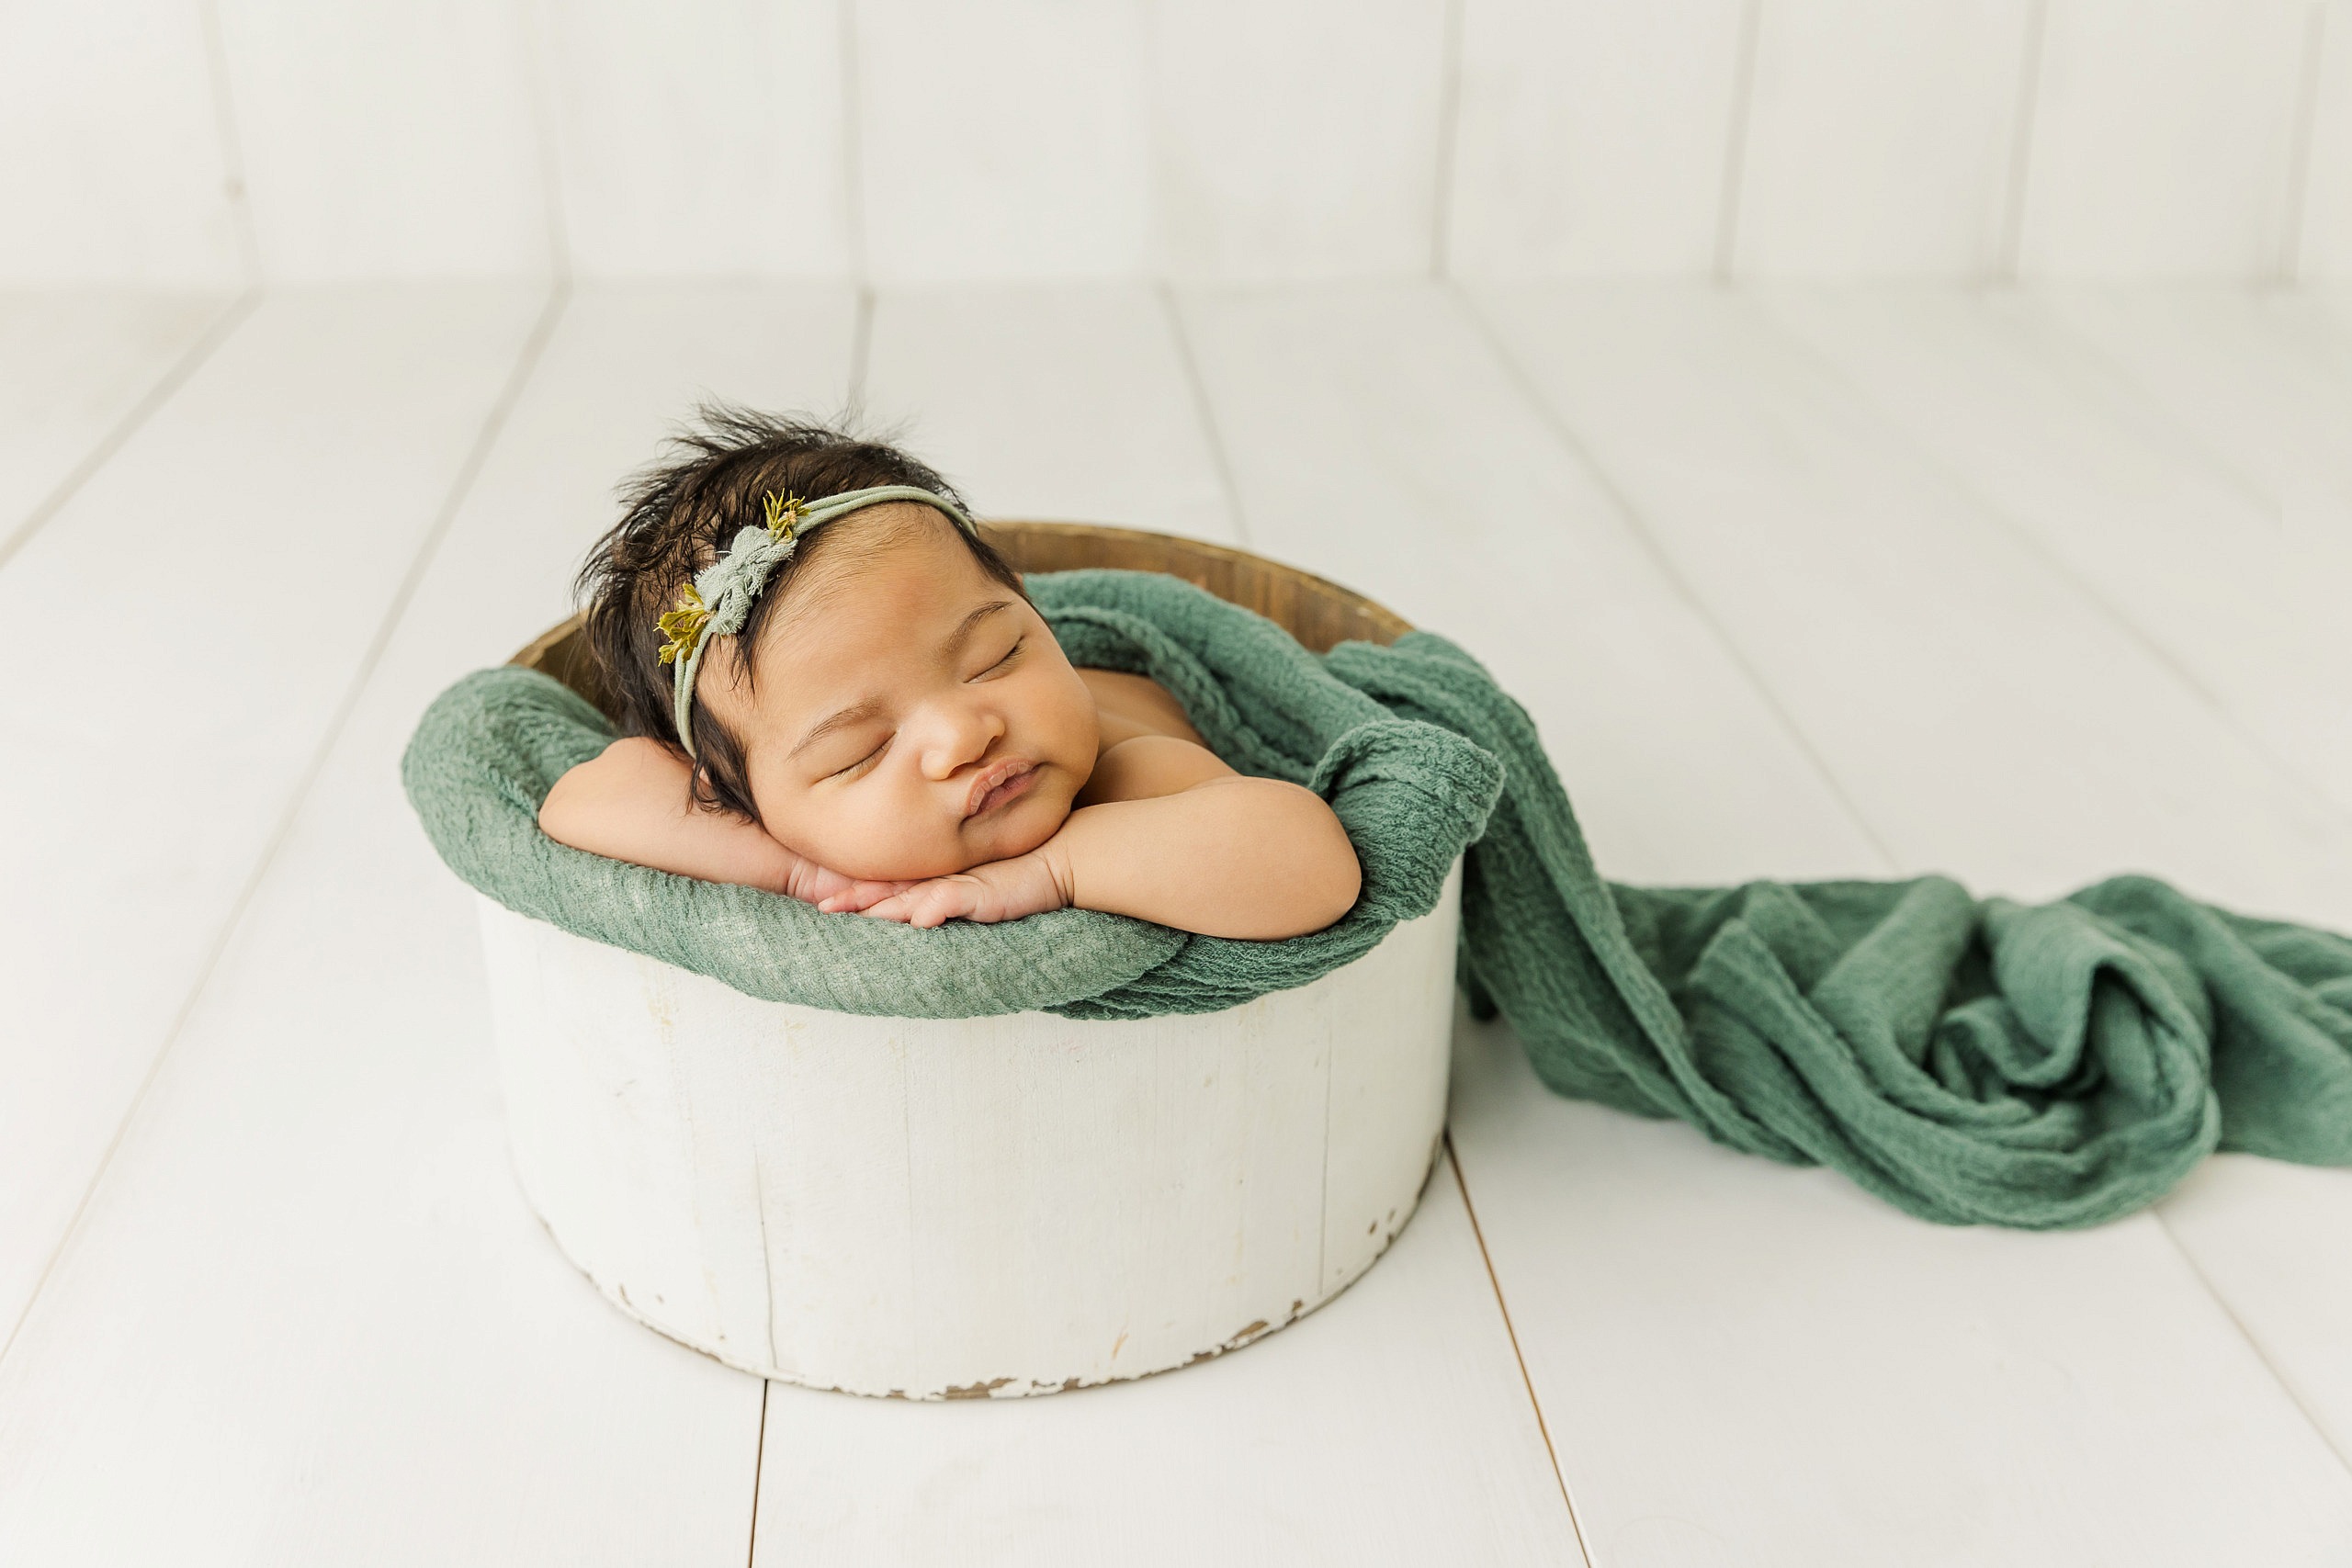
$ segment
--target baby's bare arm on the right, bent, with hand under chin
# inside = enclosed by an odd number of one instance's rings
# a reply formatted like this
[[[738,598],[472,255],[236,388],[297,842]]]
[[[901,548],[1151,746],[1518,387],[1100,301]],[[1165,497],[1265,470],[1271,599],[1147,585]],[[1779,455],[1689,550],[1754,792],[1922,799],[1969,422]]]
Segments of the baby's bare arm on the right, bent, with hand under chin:
[[[1120,741],[1080,799],[1089,804],[1030,853],[920,882],[866,912],[936,926],[1070,905],[1270,940],[1322,931],[1355,905],[1362,870],[1331,806],[1279,778],[1244,778],[1190,741]],[[854,893],[823,903],[861,905]]]

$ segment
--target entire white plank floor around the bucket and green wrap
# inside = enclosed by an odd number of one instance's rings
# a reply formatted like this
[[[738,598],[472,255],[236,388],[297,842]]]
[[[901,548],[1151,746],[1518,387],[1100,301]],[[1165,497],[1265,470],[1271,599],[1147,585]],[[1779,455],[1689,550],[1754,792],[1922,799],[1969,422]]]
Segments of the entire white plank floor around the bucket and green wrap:
[[[1298,1326],[1009,1406],[762,1389],[522,1206],[395,776],[696,395],[856,397],[983,510],[1240,538],[1454,635],[1616,877],[2136,867],[2352,929],[2343,301],[12,310],[0,538],[40,527],[0,616],[49,625],[122,517],[169,534],[7,698],[0,1561],[2352,1561],[2352,1173],[2225,1157],[2098,1232],[1940,1229],[1555,1100],[1468,1023],[1458,1168]],[[59,731],[71,783],[31,764]]]

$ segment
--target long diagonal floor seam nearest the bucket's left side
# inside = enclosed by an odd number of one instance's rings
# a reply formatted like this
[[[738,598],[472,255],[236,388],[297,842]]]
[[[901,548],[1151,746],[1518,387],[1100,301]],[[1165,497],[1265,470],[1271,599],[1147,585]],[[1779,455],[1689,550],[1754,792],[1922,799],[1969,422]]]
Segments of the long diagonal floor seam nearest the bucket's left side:
[[[181,997],[179,1011],[172,1016],[172,1025],[162,1034],[162,1044],[148,1058],[146,1074],[139,1079],[139,1088],[132,1091],[129,1103],[122,1107],[122,1117],[115,1121],[113,1135],[99,1152],[96,1166],[89,1171],[89,1180],[82,1182],[82,1197],[73,1206],[73,1215],[66,1227],[56,1234],[56,1244],[40,1265],[40,1274],[33,1279],[33,1291],[26,1293],[24,1309],[16,1321],[9,1324],[7,1338],[0,1340],[0,1363],[7,1361],[16,1340],[24,1335],[24,1326],[33,1321],[33,1312],[40,1307],[40,1298],[49,1286],[49,1276],[56,1274],[56,1265],[64,1260],[66,1251],[73,1246],[82,1229],[82,1218],[89,1213],[89,1201],[96,1197],[99,1185],[115,1164],[115,1154],[122,1152],[122,1143],[129,1135],[132,1124],[139,1119],[139,1110],[146,1105],[148,1093],[155,1088],[155,1079],[162,1074],[165,1060],[172,1056],[172,1046],[179,1044],[181,1032],[188,1027],[188,1018],[195,1016],[195,1004],[205,997],[212,985],[212,971],[219,969],[221,954],[228,952],[228,943],[235,938],[238,926],[245,922],[247,907],[254,903],[254,893],[261,891],[261,882],[268,877],[270,865],[278,860],[278,851],[285,842],[294,837],[294,823],[301,816],[303,802],[310,797],[310,788],[318,776],[327,769],[327,757],[334,752],[336,741],[343,733],[343,724],[350,722],[353,710],[360,705],[360,696],[367,691],[367,682],[376,672],[376,663],[383,658],[383,649],[390,644],[393,632],[400,628],[400,618],[409,609],[409,599],[416,597],[416,588],[423,583],[426,569],[440,552],[442,538],[449,536],[449,524],[456,520],[459,505],[473,489],[475,477],[489,461],[489,449],[496,444],[499,433],[506,428],[506,416],[513,411],[515,402],[522,397],[524,383],[539,367],[539,355],[555,334],[555,322],[564,310],[569,289],[555,284],[548,294],[548,303],[541,306],[539,320],[532,322],[529,336],[522,341],[522,353],[515,357],[515,367],[506,376],[506,386],[499,388],[499,397],[492,402],[489,414],[482,418],[482,428],[473,437],[473,447],[466,451],[466,461],[459,465],[456,477],[449,484],[449,494],[442,498],[426,536],[416,545],[416,555],[409,559],[407,576],[400,578],[400,588],[393,590],[390,604],[386,604],[383,616],[376,623],[376,635],[360,654],[360,665],[353,670],[350,682],[343,686],[343,698],[336,703],[334,712],[327,717],[327,729],[322,731],[318,745],[310,750],[310,762],[303,766],[294,788],[287,792],[285,806],[278,811],[278,820],[270,825],[270,837],[254,856],[252,870],[245,875],[245,884],[238,889],[235,900],[230,900],[228,912],[221,917],[219,929],[212,936],[205,959],[195,969],[195,978],[188,983],[186,997]]]

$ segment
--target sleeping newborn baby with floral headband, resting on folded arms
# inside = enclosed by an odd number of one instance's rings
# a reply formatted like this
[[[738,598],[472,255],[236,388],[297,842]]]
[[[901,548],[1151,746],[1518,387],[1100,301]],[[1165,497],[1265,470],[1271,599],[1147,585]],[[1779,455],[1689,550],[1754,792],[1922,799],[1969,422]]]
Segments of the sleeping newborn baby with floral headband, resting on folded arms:
[[[915,926],[1082,907],[1235,938],[1329,926],[1338,818],[1244,778],[1141,675],[1080,670],[920,461],[706,409],[581,571],[623,738],[548,837]]]

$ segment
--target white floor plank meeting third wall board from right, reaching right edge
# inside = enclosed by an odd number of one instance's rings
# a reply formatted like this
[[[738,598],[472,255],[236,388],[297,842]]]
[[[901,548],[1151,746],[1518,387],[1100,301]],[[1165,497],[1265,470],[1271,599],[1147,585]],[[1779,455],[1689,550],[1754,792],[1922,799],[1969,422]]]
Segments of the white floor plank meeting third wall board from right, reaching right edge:
[[[1952,294],[1790,294],[1773,315],[1891,416],[1922,468],[1978,498],[2100,599],[2256,750],[2352,818],[2352,663],[2321,541],[2272,484],[2089,371],[2060,329]],[[2345,367],[2352,381],[2352,367]],[[2324,397],[2298,395],[2305,409]],[[2333,409],[2352,442],[2352,386]],[[2352,473],[2352,468],[2347,468]],[[2352,489],[2347,489],[2352,494]],[[2340,522],[2352,522],[2343,512]],[[2340,555],[2340,585],[2352,552]]]

